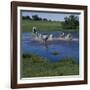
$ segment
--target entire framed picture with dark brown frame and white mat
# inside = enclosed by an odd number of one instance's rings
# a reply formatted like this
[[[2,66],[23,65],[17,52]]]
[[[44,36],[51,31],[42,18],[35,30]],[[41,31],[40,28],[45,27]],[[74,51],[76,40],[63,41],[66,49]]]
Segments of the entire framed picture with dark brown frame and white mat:
[[[87,84],[87,6],[11,2],[11,88]]]

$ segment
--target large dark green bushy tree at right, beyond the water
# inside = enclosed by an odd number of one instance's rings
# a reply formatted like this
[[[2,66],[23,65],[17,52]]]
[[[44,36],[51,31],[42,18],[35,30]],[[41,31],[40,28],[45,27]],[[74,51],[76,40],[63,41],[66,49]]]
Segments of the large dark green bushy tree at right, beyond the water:
[[[70,15],[64,18],[62,23],[64,29],[78,29],[79,28],[79,18],[75,15]]]

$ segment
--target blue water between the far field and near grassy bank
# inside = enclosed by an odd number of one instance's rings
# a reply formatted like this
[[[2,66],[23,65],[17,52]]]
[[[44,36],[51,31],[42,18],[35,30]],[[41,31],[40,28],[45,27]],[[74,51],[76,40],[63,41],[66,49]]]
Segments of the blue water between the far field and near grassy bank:
[[[60,32],[50,32],[55,37],[60,35]],[[49,33],[49,34],[50,34]],[[70,32],[73,38],[79,38],[78,32]],[[67,34],[67,32],[65,32]],[[31,33],[22,33],[21,52],[23,54],[31,53],[51,61],[58,61],[63,58],[74,58],[79,61],[79,41],[55,41],[48,42],[47,45],[33,41]],[[58,55],[53,55],[52,52],[58,52]]]

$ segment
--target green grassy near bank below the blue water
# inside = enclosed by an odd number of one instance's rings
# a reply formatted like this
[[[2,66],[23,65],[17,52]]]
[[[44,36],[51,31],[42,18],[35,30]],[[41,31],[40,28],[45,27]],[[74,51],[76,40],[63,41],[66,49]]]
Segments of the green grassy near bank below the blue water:
[[[43,77],[78,75],[79,65],[71,58],[51,62],[45,58],[24,54],[22,56],[21,77]]]

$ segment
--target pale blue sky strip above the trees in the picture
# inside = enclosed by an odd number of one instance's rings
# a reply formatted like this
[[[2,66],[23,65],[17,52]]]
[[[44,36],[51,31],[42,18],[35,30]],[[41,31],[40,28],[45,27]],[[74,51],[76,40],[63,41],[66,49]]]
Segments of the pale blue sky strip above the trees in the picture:
[[[41,18],[47,18],[48,20],[52,21],[64,21],[64,18],[67,16],[69,17],[71,14],[67,13],[48,13],[48,12],[35,12],[35,11],[21,11],[22,16],[30,16],[32,15],[38,15]],[[75,16],[79,17],[79,14],[73,14]]]

